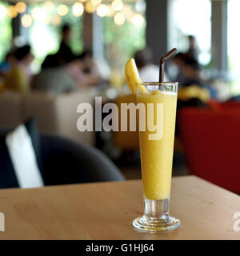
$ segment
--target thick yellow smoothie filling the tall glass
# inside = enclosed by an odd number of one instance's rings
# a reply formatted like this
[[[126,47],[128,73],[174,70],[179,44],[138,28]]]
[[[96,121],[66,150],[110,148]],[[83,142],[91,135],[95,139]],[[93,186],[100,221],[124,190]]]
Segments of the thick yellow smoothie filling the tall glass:
[[[150,94],[140,92],[137,94],[137,102],[142,102],[146,108],[147,103],[154,103],[154,123],[157,120],[157,103],[163,103],[162,138],[150,140],[149,134],[154,132],[150,132],[147,125],[146,131],[139,132],[139,138],[144,197],[150,200],[164,200],[170,198],[177,93],[161,90],[155,90]]]

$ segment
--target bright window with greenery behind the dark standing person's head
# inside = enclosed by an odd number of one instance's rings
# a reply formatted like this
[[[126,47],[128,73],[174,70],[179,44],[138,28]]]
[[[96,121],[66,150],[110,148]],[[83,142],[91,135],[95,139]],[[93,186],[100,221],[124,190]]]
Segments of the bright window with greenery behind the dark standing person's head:
[[[61,25],[68,23],[72,27],[70,45],[75,54],[82,51],[82,17],[75,17],[71,6],[64,16],[57,14],[57,6],[50,11],[44,4],[33,4],[29,7],[33,24],[29,28],[29,41],[33,48],[38,66],[47,54],[58,51]]]

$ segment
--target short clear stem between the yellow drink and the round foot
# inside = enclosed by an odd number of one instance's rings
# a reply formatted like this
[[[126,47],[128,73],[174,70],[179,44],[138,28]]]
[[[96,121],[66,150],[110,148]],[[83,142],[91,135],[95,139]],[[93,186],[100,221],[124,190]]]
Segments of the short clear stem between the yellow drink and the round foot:
[[[150,200],[144,198],[144,215],[146,218],[160,218],[162,221],[169,219],[170,199]]]

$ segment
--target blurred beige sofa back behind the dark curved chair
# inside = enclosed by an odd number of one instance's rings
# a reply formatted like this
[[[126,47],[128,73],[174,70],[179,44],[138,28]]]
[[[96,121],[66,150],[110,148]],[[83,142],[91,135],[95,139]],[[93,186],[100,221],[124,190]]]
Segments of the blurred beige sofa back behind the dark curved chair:
[[[94,104],[96,90],[81,90],[71,94],[54,95],[33,91],[20,94],[4,91],[0,94],[0,129],[14,128],[34,117],[42,132],[60,134],[78,142],[94,145],[94,132],[77,129],[78,104]]]

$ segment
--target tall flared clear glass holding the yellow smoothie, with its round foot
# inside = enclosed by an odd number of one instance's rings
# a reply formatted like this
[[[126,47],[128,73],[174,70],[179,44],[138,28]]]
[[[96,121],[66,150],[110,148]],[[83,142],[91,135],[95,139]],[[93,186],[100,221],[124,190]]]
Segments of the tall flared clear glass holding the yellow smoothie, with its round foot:
[[[169,214],[177,94],[174,82],[144,82],[137,87],[137,102],[146,109],[146,117],[139,117],[144,215],[134,219],[138,230],[158,232],[180,225]]]

